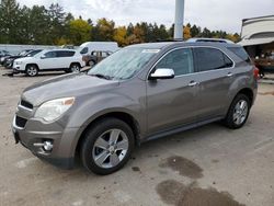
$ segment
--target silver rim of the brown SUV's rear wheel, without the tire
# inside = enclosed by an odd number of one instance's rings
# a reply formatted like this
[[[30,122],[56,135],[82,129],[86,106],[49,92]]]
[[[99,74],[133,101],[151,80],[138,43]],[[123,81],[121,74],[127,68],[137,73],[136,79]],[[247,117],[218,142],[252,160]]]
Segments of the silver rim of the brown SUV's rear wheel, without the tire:
[[[235,106],[233,123],[236,125],[241,125],[247,119],[248,112],[248,102],[246,100],[240,100]]]

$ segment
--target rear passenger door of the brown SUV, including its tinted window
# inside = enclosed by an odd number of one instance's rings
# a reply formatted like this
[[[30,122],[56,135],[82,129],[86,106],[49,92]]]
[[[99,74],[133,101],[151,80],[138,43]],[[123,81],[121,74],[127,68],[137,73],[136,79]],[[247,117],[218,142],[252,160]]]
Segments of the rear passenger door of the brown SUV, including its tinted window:
[[[228,91],[233,82],[235,64],[218,48],[194,47],[198,78],[197,119],[206,121],[226,113]]]

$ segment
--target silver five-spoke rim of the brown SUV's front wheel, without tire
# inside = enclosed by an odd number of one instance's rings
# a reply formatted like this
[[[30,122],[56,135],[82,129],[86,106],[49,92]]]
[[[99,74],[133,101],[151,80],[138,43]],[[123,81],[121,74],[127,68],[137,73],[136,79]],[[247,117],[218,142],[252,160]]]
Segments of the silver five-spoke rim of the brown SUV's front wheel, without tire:
[[[114,168],[128,151],[128,137],[121,129],[110,129],[95,141],[92,158],[100,168]]]

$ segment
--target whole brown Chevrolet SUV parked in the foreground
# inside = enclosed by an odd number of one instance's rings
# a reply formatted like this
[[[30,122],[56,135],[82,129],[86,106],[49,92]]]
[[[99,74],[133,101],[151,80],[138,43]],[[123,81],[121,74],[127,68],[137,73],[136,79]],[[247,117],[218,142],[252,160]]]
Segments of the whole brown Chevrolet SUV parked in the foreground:
[[[128,46],[88,73],[25,89],[12,124],[16,142],[48,162],[110,174],[136,145],[221,121],[238,129],[258,90],[241,46],[167,42]]]

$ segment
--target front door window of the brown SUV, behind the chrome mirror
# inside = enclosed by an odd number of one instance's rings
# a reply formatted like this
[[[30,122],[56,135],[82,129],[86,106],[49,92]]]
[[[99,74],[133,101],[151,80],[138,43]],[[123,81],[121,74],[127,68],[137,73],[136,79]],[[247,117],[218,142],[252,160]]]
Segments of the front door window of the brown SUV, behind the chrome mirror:
[[[190,48],[181,48],[169,53],[156,66],[158,68],[170,68],[175,76],[194,72],[193,56]]]

